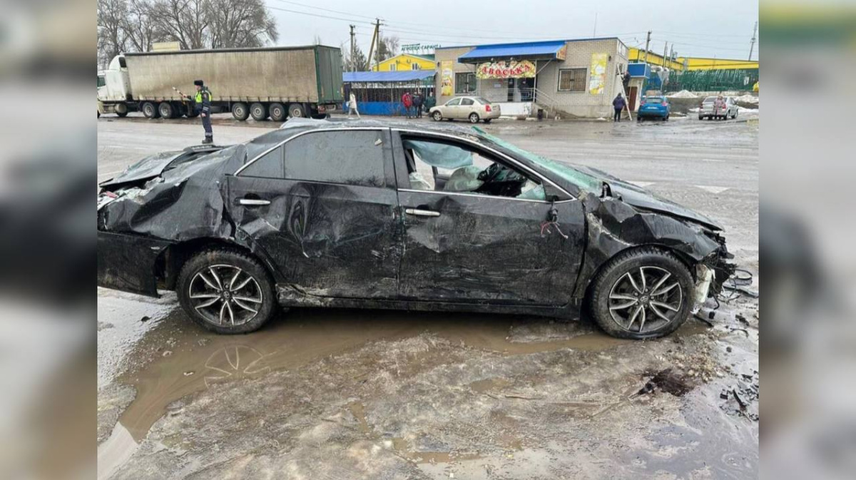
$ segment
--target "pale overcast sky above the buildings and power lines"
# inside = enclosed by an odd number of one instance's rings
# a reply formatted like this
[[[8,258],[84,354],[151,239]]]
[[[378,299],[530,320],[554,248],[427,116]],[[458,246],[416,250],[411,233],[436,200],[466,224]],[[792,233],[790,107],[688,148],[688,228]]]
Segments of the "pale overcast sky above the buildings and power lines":
[[[538,39],[585,39],[617,36],[628,46],[651,50],[675,44],[679,56],[746,59],[752,26],[758,20],[754,0],[263,0],[276,17],[277,44],[348,42],[348,24],[367,53],[374,17],[386,24],[382,35],[401,44],[489,44]],[[292,10],[292,11],[285,11]],[[335,10],[335,11],[334,11]],[[304,12],[301,15],[295,12]],[[595,15],[597,14],[597,30]],[[330,18],[333,17],[333,18]],[[758,58],[758,44],[753,59]]]

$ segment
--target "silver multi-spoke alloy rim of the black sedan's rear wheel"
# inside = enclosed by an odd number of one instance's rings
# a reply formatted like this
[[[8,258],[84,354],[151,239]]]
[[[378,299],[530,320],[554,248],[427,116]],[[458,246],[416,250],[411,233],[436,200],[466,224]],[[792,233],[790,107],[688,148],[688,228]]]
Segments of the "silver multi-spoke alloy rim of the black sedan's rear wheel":
[[[238,326],[253,320],[264,302],[259,282],[233,265],[211,265],[190,281],[188,297],[205,321]]]

